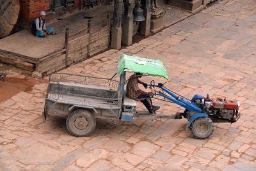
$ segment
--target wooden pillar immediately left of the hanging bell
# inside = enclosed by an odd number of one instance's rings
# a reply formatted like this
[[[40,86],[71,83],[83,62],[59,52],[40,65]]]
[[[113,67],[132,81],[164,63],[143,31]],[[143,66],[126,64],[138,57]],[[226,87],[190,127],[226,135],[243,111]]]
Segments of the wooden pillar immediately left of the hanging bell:
[[[134,0],[124,0],[122,43],[124,43],[125,45],[132,44],[133,6],[134,6]]]

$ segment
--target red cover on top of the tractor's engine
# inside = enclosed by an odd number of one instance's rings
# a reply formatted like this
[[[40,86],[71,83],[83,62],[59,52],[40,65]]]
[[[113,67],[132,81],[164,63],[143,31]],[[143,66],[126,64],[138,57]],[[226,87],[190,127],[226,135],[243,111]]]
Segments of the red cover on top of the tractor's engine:
[[[238,105],[236,100],[227,100],[222,98],[212,98],[212,106],[215,108],[226,108],[236,110]]]

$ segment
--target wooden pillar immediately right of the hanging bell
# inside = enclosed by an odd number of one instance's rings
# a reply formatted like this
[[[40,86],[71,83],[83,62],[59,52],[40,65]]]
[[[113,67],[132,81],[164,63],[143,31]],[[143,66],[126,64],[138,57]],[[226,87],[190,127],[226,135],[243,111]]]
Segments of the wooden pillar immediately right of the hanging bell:
[[[148,36],[150,34],[150,17],[151,17],[151,7],[150,0],[142,0],[143,4],[143,15],[145,20],[140,22],[140,34]]]

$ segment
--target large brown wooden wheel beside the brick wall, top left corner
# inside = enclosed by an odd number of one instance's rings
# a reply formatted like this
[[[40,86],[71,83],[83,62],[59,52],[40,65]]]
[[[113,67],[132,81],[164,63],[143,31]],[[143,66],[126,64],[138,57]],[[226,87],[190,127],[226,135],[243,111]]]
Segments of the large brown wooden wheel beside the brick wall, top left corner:
[[[11,33],[17,23],[19,11],[19,0],[0,0],[0,38]]]

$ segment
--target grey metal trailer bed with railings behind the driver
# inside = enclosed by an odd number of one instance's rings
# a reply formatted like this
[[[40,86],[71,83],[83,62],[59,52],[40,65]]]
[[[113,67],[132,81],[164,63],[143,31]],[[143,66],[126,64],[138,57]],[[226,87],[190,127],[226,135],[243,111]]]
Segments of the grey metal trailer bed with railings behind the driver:
[[[122,112],[122,95],[124,90],[120,83],[108,78],[96,78],[67,73],[50,75],[47,94],[45,97],[43,119],[74,115],[76,111],[86,109],[93,118],[106,119],[109,123],[118,123]],[[78,119],[79,120],[79,119]],[[80,119],[80,124],[88,121]],[[75,120],[74,122],[78,122]],[[75,126],[76,127],[76,126]],[[78,126],[79,127],[79,126]],[[81,129],[83,126],[81,126]],[[70,131],[70,130],[69,130]],[[70,132],[72,133],[72,132]],[[77,136],[77,133],[72,133]]]

